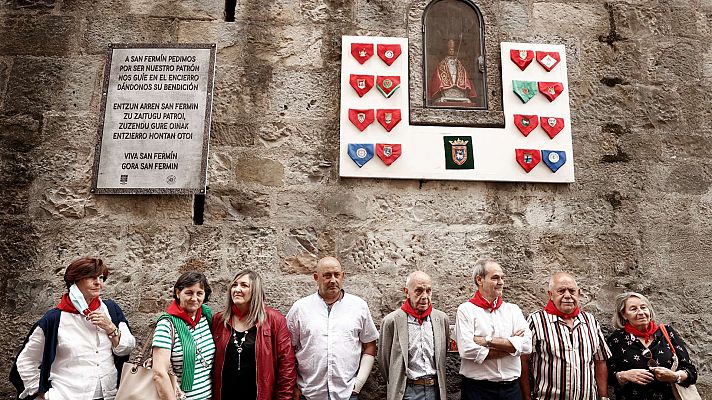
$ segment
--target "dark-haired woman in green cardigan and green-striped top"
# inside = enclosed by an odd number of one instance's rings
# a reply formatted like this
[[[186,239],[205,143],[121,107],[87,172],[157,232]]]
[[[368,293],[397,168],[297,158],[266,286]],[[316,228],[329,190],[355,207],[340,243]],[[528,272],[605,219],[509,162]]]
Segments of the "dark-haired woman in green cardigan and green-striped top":
[[[161,400],[208,400],[215,344],[208,280],[186,272],[173,286],[173,302],[156,323],[153,335],[153,382]],[[178,388],[171,375],[175,373]]]

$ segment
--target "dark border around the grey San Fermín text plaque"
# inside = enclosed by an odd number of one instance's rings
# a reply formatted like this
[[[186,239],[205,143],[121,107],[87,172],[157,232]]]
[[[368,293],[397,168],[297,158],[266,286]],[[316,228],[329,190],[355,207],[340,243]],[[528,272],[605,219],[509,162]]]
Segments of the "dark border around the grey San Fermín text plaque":
[[[209,89],[206,91],[205,126],[203,127],[203,156],[200,163],[200,184],[197,188],[101,188],[97,186],[99,180],[99,161],[101,160],[101,144],[104,139],[104,119],[106,117],[106,100],[109,94],[109,77],[114,49],[210,49],[210,65],[208,67]],[[215,57],[217,45],[215,43],[109,43],[107,62],[104,67],[104,82],[101,90],[101,110],[99,126],[97,128],[97,141],[94,148],[94,168],[92,172],[91,193],[94,194],[205,194],[208,180],[208,149],[210,147],[210,126],[213,110],[213,91],[215,89]]]

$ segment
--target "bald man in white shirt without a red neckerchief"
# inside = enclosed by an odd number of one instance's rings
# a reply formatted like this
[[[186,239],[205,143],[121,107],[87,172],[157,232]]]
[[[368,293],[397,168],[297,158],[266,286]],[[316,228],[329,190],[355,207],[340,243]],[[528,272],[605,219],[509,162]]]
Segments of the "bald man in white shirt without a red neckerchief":
[[[297,358],[295,399],[358,399],[376,356],[378,330],[366,302],[341,288],[345,274],[334,257],[317,262],[318,291],[287,314]]]

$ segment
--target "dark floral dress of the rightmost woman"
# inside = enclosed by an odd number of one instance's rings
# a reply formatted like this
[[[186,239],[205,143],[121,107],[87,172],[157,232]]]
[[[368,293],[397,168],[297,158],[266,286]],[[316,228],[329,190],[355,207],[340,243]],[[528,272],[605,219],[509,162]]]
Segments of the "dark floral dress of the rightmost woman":
[[[697,381],[697,368],[692,365],[690,355],[687,352],[685,342],[670,325],[665,325],[670,340],[675,346],[678,358],[678,370],[687,371],[689,378],[682,385],[688,386]],[[647,385],[638,385],[627,382],[623,386],[616,379],[616,372],[627,371],[629,369],[648,369],[648,358],[643,355],[645,346],[635,336],[619,329],[613,332],[608,339],[608,347],[613,354],[608,359],[608,383],[613,386],[618,400],[675,400],[672,394],[671,384],[668,382],[653,381]],[[648,346],[654,358],[661,367],[672,367],[672,351],[665,340],[665,336],[658,329],[653,335],[653,341]]]

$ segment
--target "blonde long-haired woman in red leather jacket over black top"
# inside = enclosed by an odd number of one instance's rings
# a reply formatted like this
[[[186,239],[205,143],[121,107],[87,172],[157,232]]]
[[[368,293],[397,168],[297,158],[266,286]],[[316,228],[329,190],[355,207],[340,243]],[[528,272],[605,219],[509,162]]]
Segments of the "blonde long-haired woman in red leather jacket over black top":
[[[262,278],[237,273],[213,318],[213,400],[291,400],[297,381],[287,321],[265,304]]]

